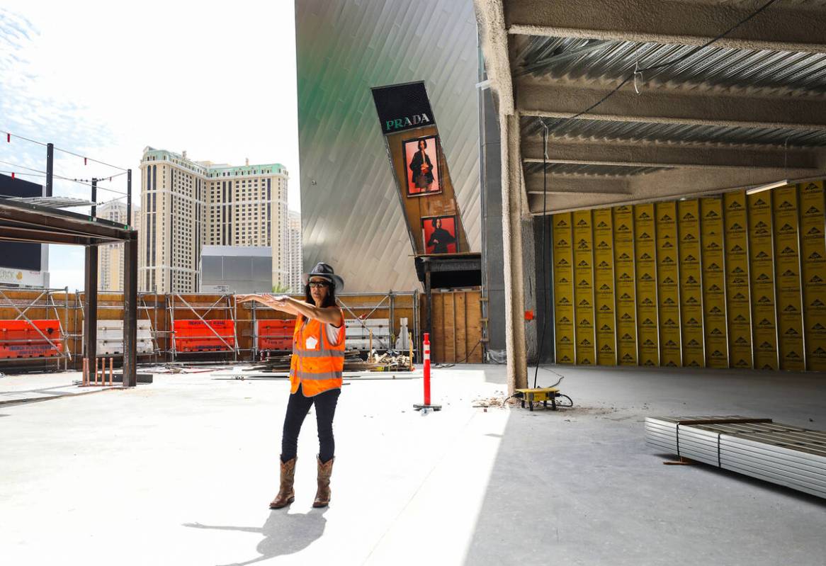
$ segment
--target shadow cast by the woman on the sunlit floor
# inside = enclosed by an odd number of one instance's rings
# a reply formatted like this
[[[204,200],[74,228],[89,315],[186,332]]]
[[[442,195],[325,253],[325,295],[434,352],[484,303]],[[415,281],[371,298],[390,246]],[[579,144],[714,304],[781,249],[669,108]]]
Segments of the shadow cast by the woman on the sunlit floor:
[[[238,530],[247,533],[260,533],[264,538],[255,547],[259,556],[244,560],[244,562],[220,565],[244,566],[244,564],[254,564],[276,556],[295,554],[306,549],[307,546],[320,539],[321,535],[324,534],[327,523],[324,514],[327,509],[327,507],[312,509],[306,513],[287,513],[286,508],[273,510],[270,511],[267,522],[261,527],[213,526],[202,525],[201,523],[184,523],[183,526],[195,529]]]

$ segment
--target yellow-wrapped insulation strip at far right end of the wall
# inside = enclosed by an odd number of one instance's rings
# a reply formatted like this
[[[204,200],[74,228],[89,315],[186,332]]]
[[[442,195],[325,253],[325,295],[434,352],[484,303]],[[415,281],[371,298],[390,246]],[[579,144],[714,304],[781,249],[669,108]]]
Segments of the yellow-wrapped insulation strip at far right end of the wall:
[[[826,371],[826,240],[824,183],[801,183],[800,259],[806,369]]]

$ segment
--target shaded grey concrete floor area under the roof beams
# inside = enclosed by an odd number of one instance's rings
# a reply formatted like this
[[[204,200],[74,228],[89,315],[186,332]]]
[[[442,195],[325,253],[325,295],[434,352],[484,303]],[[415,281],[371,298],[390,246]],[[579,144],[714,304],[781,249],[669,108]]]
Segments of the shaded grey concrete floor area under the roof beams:
[[[464,566],[824,566],[823,500],[713,466],[664,466],[675,455],[646,445],[643,424],[681,414],[822,423],[822,377],[555,370],[577,404],[510,408]]]

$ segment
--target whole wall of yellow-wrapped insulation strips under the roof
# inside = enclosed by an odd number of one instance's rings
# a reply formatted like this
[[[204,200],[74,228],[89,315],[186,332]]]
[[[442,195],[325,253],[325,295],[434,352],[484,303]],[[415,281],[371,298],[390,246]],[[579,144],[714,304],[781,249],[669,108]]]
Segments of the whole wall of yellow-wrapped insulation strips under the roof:
[[[826,371],[823,181],[552,224],[559,364]]]

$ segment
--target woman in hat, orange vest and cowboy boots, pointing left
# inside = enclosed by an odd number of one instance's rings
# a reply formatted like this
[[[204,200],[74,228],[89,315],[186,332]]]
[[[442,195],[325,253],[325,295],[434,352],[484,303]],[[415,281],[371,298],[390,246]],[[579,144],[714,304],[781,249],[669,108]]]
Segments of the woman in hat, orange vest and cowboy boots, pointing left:
[[[296,473],[298,433],[310,407],[316,406],[319,453],[318,491],[313,507],[330,502],[330,475],[333,472],[335,440],[333,416],[341,392],[344,369],[344,312],[336,305],[335,292],[344,288],[344,279],[325,263],[304,274],[305,301],[273,295],[244,295],[239,302],[258,301],[281,312],[296,315],[290,363],[290,399],[284,416],[281,440],[281,484],[269,504],[280,509],[295,501],[292,489]]]

